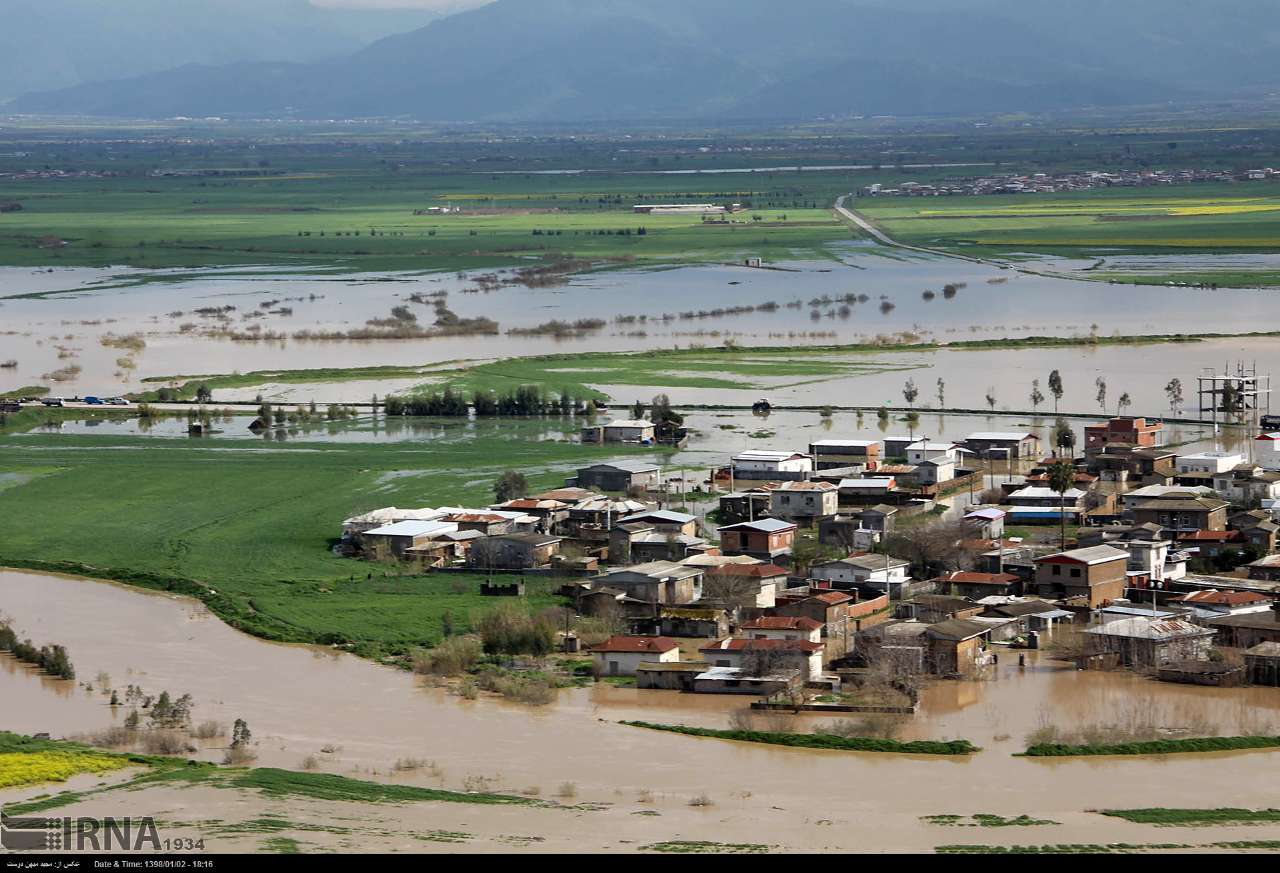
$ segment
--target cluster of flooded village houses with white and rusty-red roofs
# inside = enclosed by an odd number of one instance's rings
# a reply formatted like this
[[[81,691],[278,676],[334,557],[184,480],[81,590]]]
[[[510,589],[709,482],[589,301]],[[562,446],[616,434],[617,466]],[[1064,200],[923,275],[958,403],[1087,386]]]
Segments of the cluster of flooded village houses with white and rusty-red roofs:
[[[581,442],[687,438],[636,411]],[[1044,440],[828,438],[698,475],[605,461],[490,506],[353,516],[338,550],[399,573],[488,575],[486,597],[553,580],[595,629],[557,645],[596,678],[755,709],[910,713],[923,684],[982,681],[1028,650],[1280,686],[1280,433],[1252,442],[1252,458],[1166,448],[1164,422],[1117,416],[1085,425],[1080,451],[1059,419]]]

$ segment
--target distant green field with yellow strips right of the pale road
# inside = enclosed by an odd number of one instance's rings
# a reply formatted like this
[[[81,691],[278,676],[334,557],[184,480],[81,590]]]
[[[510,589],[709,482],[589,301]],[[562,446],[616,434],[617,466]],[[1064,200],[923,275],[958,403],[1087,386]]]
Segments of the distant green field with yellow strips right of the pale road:
[[[969,255],[1258,252],[1274,251],[1280,233],[1280,191],[1267,183],[851,205],[895,239]]]

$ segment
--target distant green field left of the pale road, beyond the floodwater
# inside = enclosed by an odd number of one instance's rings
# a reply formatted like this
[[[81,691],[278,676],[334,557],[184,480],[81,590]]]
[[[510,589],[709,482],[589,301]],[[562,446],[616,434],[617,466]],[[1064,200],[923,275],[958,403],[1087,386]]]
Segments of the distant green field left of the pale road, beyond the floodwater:
[[[280,174],[265,177],[151,177],[133,168],[101,179],[0,179],[0,202],[22,205],[0,214],[0,264],[360,271],[566,256],[641,266],[831,259],[827,246],[851,238],[829,210],[850,182],[801,175],[440,173],[339,152],[291,154]],[[632,211],[666,201],[755,207],[728,224]],[[415,215],[433,206],[461,212]]]

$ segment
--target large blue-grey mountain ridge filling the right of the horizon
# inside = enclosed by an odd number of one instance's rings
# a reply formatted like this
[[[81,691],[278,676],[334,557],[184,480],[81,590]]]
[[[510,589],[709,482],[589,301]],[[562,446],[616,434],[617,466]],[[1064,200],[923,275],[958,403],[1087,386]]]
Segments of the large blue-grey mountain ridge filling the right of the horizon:
[[[1272,0],[497,0],[342,58],[186,65],[12,108],[625,122],[1117,106],[1280,86],[1274,12]]]

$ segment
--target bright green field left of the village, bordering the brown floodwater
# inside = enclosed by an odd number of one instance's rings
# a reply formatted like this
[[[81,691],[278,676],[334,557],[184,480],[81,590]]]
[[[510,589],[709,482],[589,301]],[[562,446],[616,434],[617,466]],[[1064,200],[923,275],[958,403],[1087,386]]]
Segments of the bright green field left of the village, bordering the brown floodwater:
[[[172,588],[270,639],[401,653],[436,643],[445,612],[462,630],[492,600],[476,576],[398,577],[333,556],[343,518],[384,506],[486,506],[503,470],[545,488],[620,454],[545,439],[571,426],[445,421],[430,439],[380,444],[0,436],[0,474],[13,474],[0,475],[0,516],[40,520],[9,531],[0,566]],[[532,582],[530,604],[557,603],[552,585]]]

